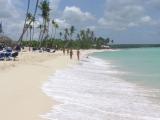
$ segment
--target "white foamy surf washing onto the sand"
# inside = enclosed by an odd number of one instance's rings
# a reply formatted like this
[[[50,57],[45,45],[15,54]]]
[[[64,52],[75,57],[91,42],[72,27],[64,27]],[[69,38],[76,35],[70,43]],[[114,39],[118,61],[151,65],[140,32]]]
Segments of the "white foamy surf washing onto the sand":
[[[153,92],[116,77],[112,65],[93,57],[57,71],[43,91],[60,104],[48,120],[160,120]],[[113,74],[114,73],[114,74]],[[123,73],[122,73],[123,74]],[[150,94],[152,93],[152,94]]]

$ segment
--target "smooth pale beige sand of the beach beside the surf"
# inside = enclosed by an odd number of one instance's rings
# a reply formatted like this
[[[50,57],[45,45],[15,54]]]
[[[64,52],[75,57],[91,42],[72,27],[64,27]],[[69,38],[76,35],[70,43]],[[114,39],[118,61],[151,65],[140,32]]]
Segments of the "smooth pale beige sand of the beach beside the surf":
[[[96,50],[81,51],[81,56]],[[56,53],[20,53],[16,61],[0,61],[0,120],[42,120],[57,101],[41,87],[56,70],[77,63]]]

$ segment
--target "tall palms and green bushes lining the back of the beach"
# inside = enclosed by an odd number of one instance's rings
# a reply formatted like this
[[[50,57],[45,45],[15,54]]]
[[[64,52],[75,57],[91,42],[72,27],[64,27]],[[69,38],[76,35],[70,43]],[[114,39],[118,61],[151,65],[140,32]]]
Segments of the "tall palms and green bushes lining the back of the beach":
[[[36,1],[34,13],[30,13],[31,1],[28,0],[26,11],[26,18],[24,28],[19,39],[20,45],[28,47],[45,47],[45,48],[103,48],[113,40],[109,38],[96,37],[94,31],[88,29],[76,31],[75,26],[71,25],[69,28],[59,30],[59,38],[57,38],[57,31],[59,29],[58,23],[50,18],[50,3],[49,0]],[[38,17],[42,18],[42,22],[38,21],[39,26],[35,27],[36,13],[39,12]],[[50,29],[49,29],[50,28]],[[34,30],[39,31],[38,39],[34,38]],[[51,32],[49,32],[51,30]],[[24,35],[28,36],[24,40]]]

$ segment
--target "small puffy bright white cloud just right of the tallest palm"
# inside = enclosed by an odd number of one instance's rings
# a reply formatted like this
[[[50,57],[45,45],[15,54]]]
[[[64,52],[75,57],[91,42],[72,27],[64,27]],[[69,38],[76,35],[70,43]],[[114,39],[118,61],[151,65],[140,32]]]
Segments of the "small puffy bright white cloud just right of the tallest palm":
[[[88,20],[93,20],[94,16],[89,12],[83,12],[79,7],[66,6],[63,11],[63,18],[70,22],[85,22]]]

